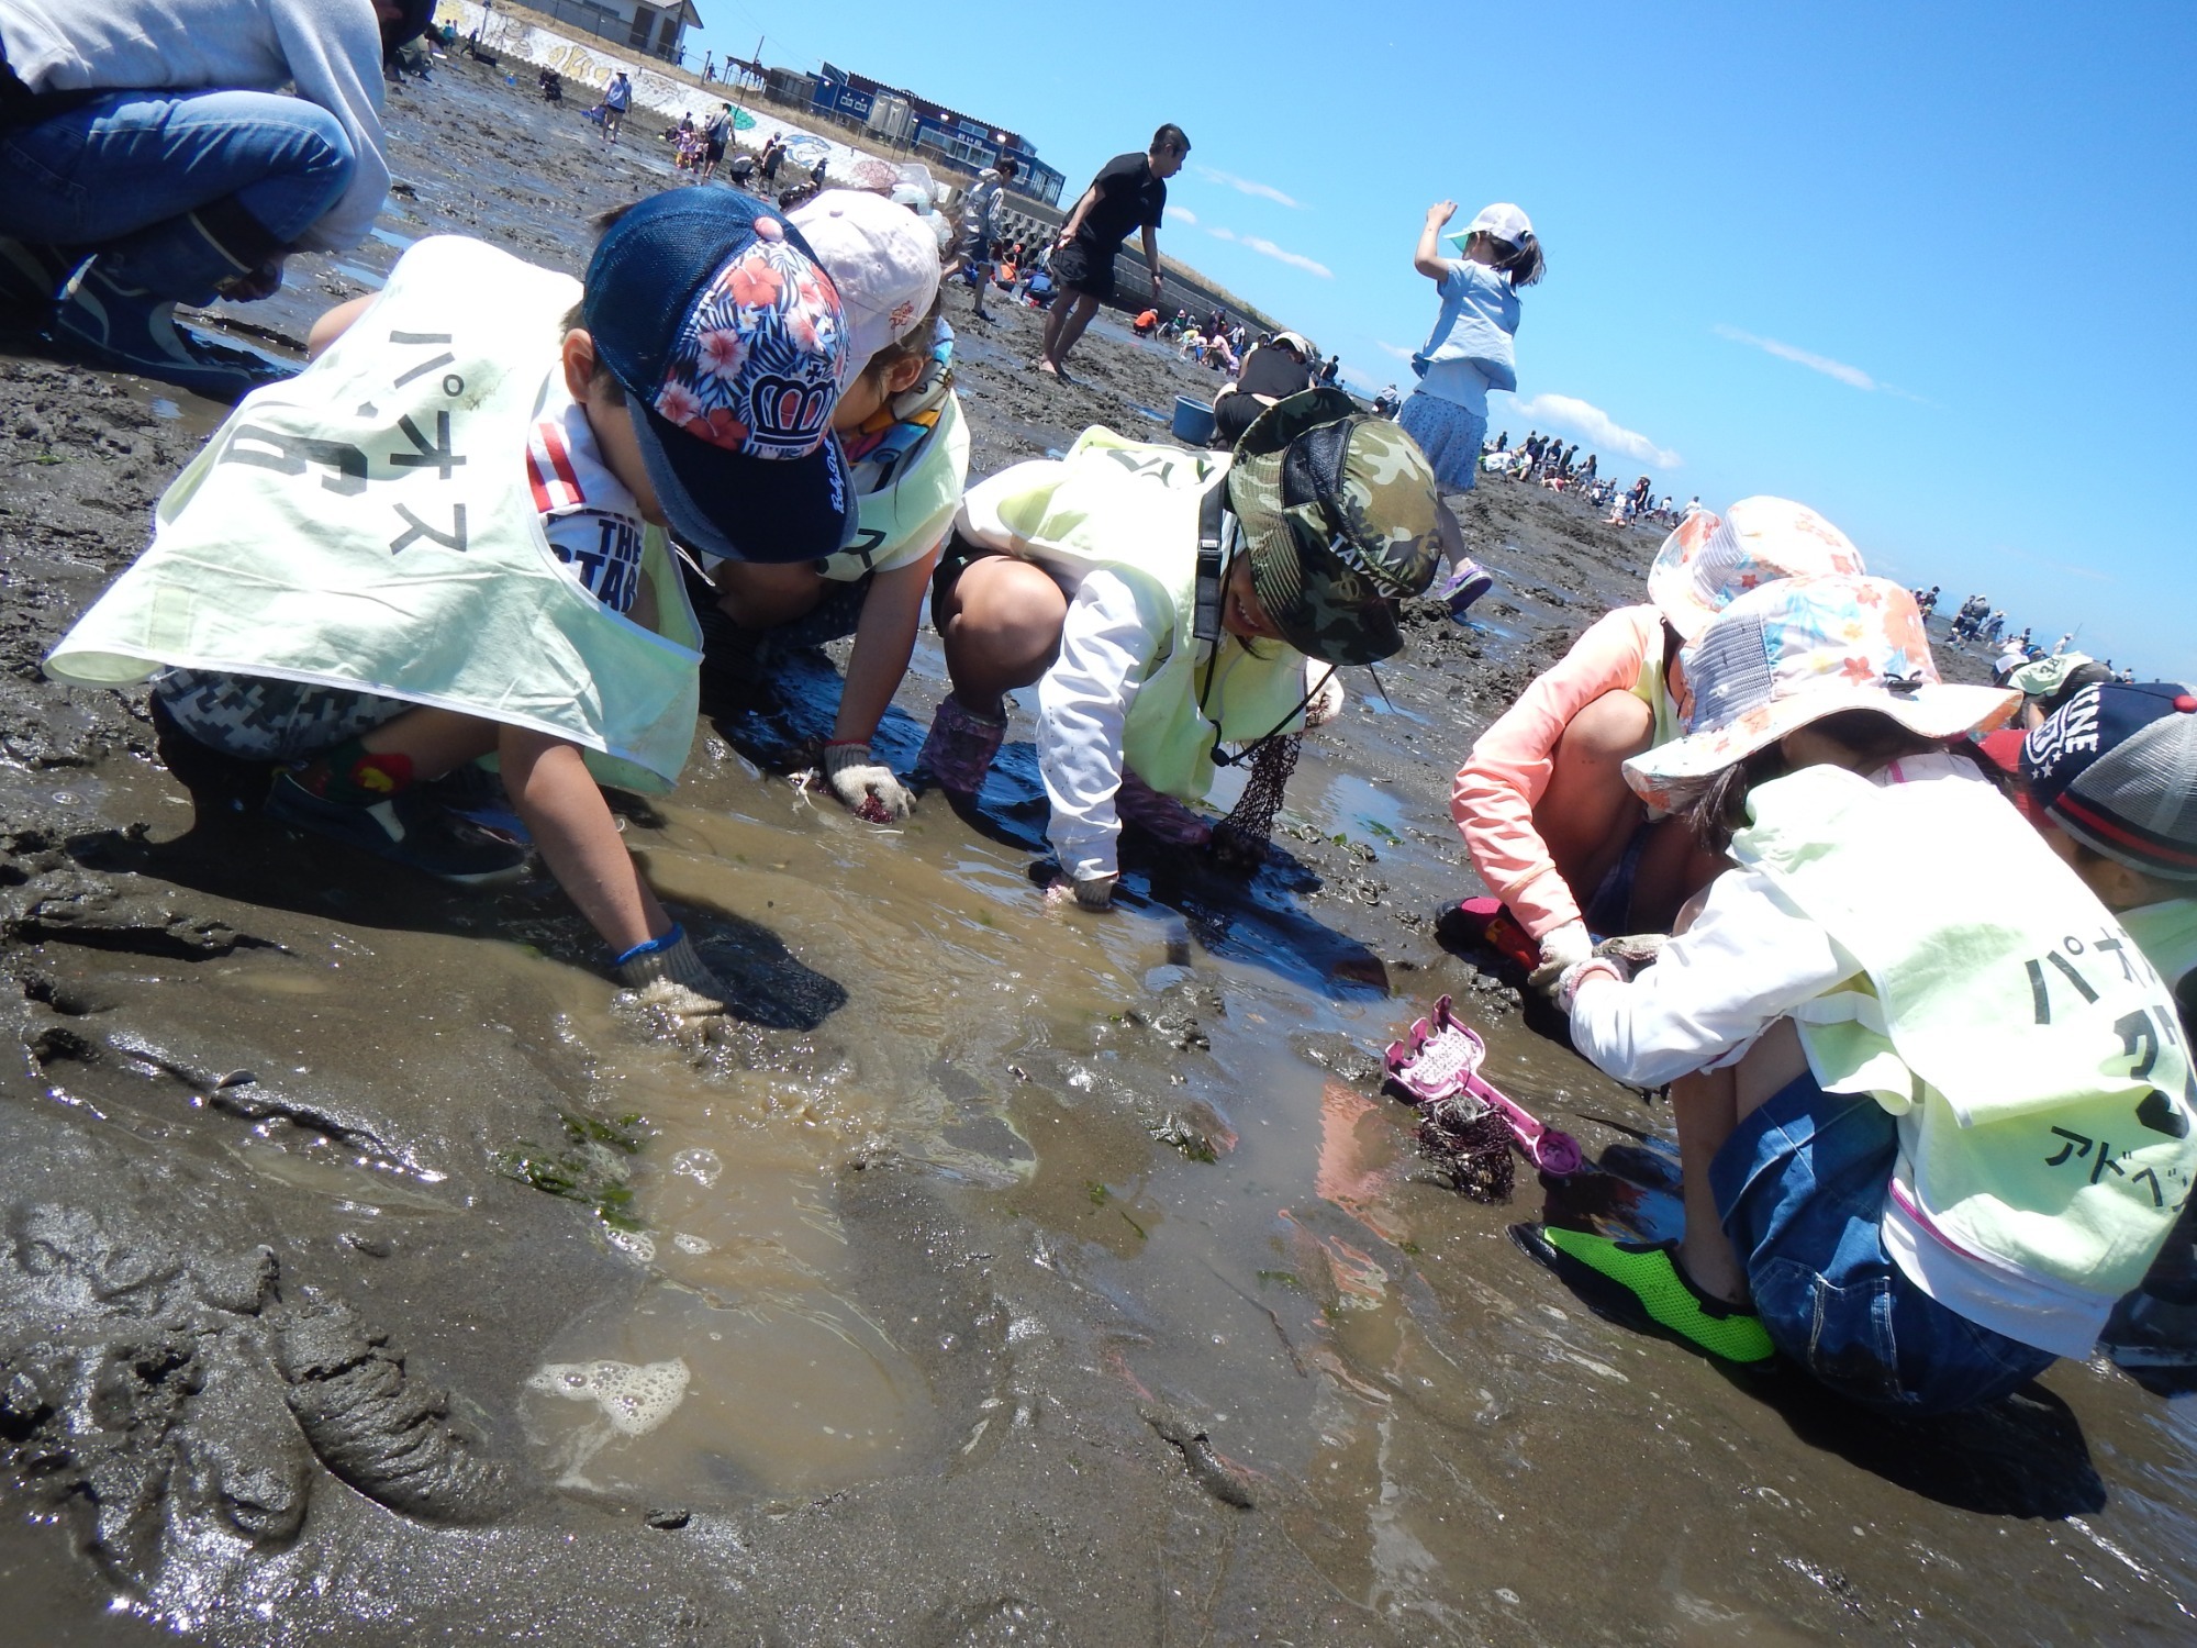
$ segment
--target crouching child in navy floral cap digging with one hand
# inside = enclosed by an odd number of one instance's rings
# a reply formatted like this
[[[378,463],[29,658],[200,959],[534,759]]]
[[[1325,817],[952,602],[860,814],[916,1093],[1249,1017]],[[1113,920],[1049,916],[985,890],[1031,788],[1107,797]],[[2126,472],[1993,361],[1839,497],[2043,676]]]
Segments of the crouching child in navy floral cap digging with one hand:
[[[303,374],[237,407],[46,672],[154,677],[187,782],[257,765],[244,800],[266,817],[450,881],[523,864],[431,793],[497,756],[617,976],[716,1011],[723,984],[595,780],[666,791],[694,736],[666,530],[718,556],[839,545],[839,332],[800,235],[732,191],[626,211],[584,292],[424,240],[382,292],[323,316]]]

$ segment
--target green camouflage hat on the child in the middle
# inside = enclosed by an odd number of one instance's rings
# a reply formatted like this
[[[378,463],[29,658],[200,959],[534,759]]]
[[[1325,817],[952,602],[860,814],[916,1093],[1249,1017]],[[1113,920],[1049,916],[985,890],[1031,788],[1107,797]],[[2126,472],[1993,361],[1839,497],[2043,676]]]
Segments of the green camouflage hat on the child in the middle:
[[[1228,503],[1290,646],[1329,664],[1404,650],[1395,602],[1424,593],[1441,556],[1435,472],[1410,435],[1340,389],[1307,389],[1244,431]]]

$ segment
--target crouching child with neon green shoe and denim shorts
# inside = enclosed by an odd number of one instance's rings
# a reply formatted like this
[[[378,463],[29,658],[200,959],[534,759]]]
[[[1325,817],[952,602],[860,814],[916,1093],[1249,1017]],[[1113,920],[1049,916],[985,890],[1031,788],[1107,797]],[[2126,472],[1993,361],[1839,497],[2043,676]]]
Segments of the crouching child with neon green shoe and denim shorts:
[[[1685,1235],[1520,1237],[1885,1411],[2089,1356],[2190,1195],[2197,1085],[2173,995],[1964,743],[2017,697],[1942,686],[1883,578],[1740,595],[1683,661],[1687,736],[1626,776],[1736,868],[1646,973],[1560,995],[1595,1066],[1674,1083]]]

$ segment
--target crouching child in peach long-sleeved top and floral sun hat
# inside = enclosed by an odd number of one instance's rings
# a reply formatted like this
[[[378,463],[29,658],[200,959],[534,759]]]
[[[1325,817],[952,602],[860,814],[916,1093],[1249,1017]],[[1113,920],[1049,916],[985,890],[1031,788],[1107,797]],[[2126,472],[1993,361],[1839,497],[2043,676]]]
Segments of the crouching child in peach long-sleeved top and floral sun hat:
[[[1689,514],[1648,569],[1648,602],[1595,620],[1472,745],[1450,817],[1503,918],[1476,901],[1459,910],[1465,925],[1518,951],[1544,991],[1597,938],[1670,932],[1720,859],[1683,820],[1652,815],[1624,762],[1679,736],[1681,648],[1736,595],[1834,571],[1865,571],[1861,552],[1804,503]]]

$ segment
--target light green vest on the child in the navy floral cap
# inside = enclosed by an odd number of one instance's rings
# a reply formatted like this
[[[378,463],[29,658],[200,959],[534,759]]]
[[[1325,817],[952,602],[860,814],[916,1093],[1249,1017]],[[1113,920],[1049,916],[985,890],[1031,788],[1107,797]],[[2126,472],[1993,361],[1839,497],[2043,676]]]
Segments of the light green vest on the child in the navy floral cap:
[[[356,688],[545,732],[606,782],[670,789],[699,686],[670,545],[650,530],[642,552],[659,635],[565,574],[527,483],[578,299],[569,275],[422,240],[327,354],[215,431],[160,499],[152,547],[46,672]]]

